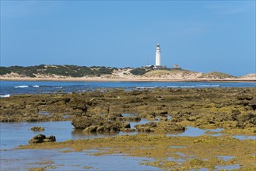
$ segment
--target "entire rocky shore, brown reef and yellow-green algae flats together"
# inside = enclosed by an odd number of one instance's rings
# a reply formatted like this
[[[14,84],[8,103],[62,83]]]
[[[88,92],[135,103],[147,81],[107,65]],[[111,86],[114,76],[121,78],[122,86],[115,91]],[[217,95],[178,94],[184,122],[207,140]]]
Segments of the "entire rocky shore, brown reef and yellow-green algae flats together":
[[[0,99],[0,121],[71,120],[75,130],[82,130],[82,134],[141,132],[62,142],[56,142],[58,134],[49,137],[38,134],[30,139],[30,145],[19,145],[18,149],[60,149],[60,155],[93,149],[96,152],[90,155],[124,154],[151,158],[153,161],[140,164],[159,169],[213,170],[227,167],[254,170],[256,141],[239,140],[231,134],[256,136],[255,91],[256,88],[143,88],[17,95]],[[134,128],[129,124],[145,119],[151,122],[136,124]],[[197,137],[175,136],[188,126],[223,128],[219,133],[225,134],[214,136],[211,135],[214,132],[209,132]],[[42,128],[32,127],[31,130],[40,131]],[[169,133],[174,136],[167,136]],[[47,163],[33,169],[58,168],[54,161]]]

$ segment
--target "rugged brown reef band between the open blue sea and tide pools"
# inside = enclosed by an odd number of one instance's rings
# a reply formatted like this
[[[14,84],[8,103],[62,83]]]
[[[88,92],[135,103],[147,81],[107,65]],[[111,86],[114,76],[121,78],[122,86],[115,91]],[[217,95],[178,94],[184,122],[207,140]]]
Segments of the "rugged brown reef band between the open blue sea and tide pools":
[[[128,121],[157,120],[137,131],[181,131],[176,125],[223,127],[256,134],[256,88],[98,89],[72,94],[19,95],[0,99],[0,121],[72,120],[86,131],[131,131]],[[123,117],[121,113],[138,113]],[[70,117],[65,117],[69,115]],[[172,117],[167,120],[167,117]],[[161,124],[161,126],[160,126]],[[164,132],[164,130],[162,130]]]

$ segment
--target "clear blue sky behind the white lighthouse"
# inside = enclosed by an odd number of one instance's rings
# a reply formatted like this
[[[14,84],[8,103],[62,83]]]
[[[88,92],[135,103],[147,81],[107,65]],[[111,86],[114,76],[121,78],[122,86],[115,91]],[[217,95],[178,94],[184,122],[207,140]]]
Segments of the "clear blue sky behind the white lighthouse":
[[[1,0],[1,66],[255,73],[255,1]]]

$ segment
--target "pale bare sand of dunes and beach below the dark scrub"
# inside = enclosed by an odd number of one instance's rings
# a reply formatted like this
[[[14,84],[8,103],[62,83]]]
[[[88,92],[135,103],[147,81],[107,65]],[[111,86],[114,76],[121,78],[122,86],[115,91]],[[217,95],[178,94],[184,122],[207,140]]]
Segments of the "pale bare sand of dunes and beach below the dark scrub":
[[[144,75],[132,75],[131,69],[119,69],[112,75],[68,77],[62,75],[36,75],[26,77],[17,73],[0,75],[1,80],[56,80],[56,81],[127,81],[127,82],[174,82],[174,81],[256,81],[256,74],[235,77],[221,72],[191,72],[188,70],[152,70]]]

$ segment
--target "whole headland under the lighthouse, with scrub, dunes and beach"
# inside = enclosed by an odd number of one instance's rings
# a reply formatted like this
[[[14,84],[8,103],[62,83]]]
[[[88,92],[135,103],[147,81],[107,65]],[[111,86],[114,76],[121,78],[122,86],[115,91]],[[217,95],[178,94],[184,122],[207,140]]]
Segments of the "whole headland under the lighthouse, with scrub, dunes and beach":
[[[38,65],[1,67],[0,80],[75,82],[256,82],[256,74],[240,77],[222,72],[193,72],[181,68],[85,67]]]

